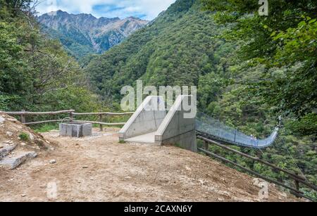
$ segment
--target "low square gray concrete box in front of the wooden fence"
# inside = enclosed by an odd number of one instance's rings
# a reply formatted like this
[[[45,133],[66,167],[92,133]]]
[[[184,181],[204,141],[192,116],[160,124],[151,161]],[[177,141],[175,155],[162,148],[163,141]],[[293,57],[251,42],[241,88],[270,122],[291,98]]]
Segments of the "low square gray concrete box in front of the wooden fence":
[[[59,134],[61,136],[92,136],[92,124],[89,123],[61,123],[59,125]]]

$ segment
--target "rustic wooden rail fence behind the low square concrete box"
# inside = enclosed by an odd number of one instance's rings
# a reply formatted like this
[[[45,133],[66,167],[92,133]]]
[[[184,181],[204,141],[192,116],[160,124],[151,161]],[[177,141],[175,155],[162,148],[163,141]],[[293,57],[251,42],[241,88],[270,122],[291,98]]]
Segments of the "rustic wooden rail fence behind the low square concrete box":
[[[20,121],[24,125],[39,125],[43,123],[50,123],[50,122],[76,122],[76,123],[92,123],[96,125],[100,125],[101,131],[103,130],[103,126],[116,126],[116,125],[125,125],[125,122],[116,122],[116,123],[107,123],[103,122],[104,116],[119,116],[119,115],[132,115],[133,113],[75,113],[75,110],[60,110],[60,111],[54,111],[54,112],[28,112],[25,110],[21,110],[20,112],[4,112],[8,115],[19,115]],[[44,120],[39,122],[27,122],[27,115],[59,115],[59,114],[68,114],[68,117],[64,119],[58,119],[58,120]],[[82,116],[82,115],[97,115],[99,116],[99,121],[87,121],[87,120],[76,120],[75,116]]]

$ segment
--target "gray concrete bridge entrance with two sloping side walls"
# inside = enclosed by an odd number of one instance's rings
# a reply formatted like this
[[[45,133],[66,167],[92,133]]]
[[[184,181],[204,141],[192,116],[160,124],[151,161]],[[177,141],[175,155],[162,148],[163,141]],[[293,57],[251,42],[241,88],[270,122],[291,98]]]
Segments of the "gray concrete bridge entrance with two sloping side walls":
[[[141,144],[176,144],[190,151],[197,151],[195,120],[185,118],[183,102],[192,96],[178,96],[166,114],[165,102],[159,96],[144,100],[127,124],[120,130],[120,141]],[[159,103],[155,103],[159,101]]]

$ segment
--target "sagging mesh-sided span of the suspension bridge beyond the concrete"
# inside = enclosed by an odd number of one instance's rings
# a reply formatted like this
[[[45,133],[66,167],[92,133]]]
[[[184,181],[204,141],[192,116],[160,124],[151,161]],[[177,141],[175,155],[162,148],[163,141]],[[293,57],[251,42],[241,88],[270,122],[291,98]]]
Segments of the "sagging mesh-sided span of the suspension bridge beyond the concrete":
[[[228,127],[219,120],[210,117],[204,113],[197,113],[196,130],[201,134],[207,134],[218,141],[225,141],[237,146],[251,148],[266,148],[271,146],[278,136],[278,127],[274,129],[271,136],[266,139],[256,139],[253,136],[247,136],[237,129]]]

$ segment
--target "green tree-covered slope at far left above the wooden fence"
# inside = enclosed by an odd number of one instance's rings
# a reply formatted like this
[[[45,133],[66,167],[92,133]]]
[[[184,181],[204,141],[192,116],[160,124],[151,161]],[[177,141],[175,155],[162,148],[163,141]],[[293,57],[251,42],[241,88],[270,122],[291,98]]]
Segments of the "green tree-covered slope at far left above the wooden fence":
[[[39,32],[31,1],[0,4],[0,110],[96,108],[77,62]]]

